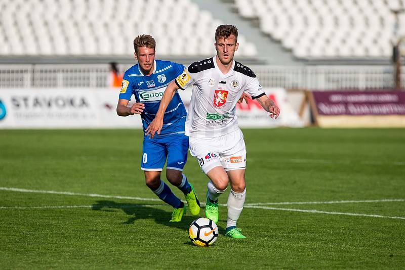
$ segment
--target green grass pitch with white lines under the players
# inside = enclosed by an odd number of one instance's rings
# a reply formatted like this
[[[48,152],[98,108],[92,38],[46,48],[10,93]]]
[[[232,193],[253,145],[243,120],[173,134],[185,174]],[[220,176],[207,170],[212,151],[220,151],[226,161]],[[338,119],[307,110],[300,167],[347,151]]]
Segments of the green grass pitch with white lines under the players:
[[[404,129],[243,131],[248,238],[224,237],[220,206],[201,248],[145,186],[141,130],[0,130],[0,268],[405,268]],[[194,158],[184,172],[204,202]]]

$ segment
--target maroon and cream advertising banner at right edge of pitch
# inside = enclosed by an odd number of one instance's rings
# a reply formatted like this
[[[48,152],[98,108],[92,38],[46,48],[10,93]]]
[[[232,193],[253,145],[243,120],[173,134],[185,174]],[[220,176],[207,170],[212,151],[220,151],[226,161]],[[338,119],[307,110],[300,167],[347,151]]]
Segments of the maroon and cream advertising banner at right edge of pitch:
[[[311,108],[319,126],[405,126],[405,92],[400,91],[313,91]]]

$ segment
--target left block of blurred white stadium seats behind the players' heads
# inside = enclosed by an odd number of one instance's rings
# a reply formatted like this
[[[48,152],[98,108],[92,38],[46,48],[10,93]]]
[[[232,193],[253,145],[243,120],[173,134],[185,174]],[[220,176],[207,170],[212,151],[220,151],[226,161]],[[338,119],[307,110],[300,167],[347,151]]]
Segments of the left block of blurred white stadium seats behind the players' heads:
[[[1,1],[0,55],[127,56],[133,38],[149,33],[159,55],[211,56],[214,40],[207,36],[220,24],[190,0]],[[240,39],[238,55],[255,56],[255,44]]]

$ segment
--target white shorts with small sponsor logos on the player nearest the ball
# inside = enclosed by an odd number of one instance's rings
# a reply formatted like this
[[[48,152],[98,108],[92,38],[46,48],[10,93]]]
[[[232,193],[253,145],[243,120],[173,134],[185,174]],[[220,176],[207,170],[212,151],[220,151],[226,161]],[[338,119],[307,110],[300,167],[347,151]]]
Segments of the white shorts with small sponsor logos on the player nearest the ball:
[[[225,170],[246,168],[246,146],[240,129],[219,137],[190,137],[188,142],[190,154],[206,174],[217,166]]]

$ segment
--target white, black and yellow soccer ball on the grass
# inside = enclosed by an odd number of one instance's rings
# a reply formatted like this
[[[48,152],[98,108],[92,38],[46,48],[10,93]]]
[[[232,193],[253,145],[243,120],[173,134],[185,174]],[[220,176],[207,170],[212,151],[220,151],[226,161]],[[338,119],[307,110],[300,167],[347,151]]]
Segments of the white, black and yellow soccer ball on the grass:
[[[196,246],[212,246],[218,237],[218,226],[211,219],[200,217],[191,223],[188,237]]]

